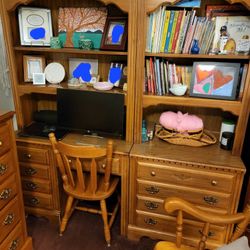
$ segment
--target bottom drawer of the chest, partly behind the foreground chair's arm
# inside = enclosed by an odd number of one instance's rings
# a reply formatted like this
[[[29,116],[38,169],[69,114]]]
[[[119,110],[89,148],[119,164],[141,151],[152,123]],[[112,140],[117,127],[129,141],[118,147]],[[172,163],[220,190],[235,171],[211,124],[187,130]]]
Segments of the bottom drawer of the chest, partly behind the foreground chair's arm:
[[[183,237],[200,239],[203,223],[185,220],[183,224]],[[176,234],[176,219],[170,216],[156,216],[150,213],[137,211],[136,226],[155,231],[165,232],[171,235]],[[208,242],[223,242],[225,238],[225,228],[211,225]]]

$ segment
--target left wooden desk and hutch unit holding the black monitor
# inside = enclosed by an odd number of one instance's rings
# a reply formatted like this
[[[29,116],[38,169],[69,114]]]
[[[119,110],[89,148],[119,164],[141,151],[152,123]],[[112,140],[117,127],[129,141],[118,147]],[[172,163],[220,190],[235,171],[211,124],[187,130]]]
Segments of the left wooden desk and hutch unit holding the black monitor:
[[[81,50],[76,48],[51,49],[50,47],[21,46],[19,37],[17,10],[20,6],[49,8],[52,15],[53,35],[58,34],[58,11],[59,7],[107,7],[108,16],[128,17],[128,39],[126,51],[108,50]],[[101,80],[108,79],[110,63],[122,61],[127,64],[128,88],[125,95],[126,106],[126,138],[121,144],[128,144],[123,150],[122,160],[119,160],[118,175],[121,175],[122,192],[122,223],[121,232],[126,233],[127,224],[127,195],[128,190],[128,153],[133,142],[133,119],[134,119],[134,74],[136,60],[136,2],[123,0],[73,0],[73,1],[47,1],[47,0],[0,0],[1,16],[6,38],[6,47],[10,65],[10,77],[13,87],[13,95],[16,108],[18,128],[22,129],[33,121],[33,113],[40,110],[56,110],[56,87],[34,86],[24,82],[23,55],[44,56],[46,64],[60,62],[66,71],[62,88],[67,86],[69,78],[69,58],[98,59],[98,68]],[[82,91],[96,91],[91,87],[80,87]],[[121,92],[113,89],[111,93]],[[61,214],[59,195],[59,183],[57,169],[48,139],[24,138],[17,136],[17,148],[20,162],[22,185],[24,191],[24,203],[26,212],[38,216],[46,216],[51,220],[58,221]],[[119,158],[119,159],[120,159]],[[124,159],[123,159],[124,158]],[[117,162],[117,161],[115,161]],[[116,163],[117,165],[117,163]],[[117,169],[114,170],[117,172]],[[115,172],[115,174],[117,174]]]

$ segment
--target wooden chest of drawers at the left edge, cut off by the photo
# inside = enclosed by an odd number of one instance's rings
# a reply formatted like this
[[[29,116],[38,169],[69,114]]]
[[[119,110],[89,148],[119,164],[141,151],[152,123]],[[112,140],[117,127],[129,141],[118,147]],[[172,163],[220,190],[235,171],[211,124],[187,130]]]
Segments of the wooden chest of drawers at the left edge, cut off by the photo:
[[[12,116],[12,112],[0,114],[0,249],[30,250]]]

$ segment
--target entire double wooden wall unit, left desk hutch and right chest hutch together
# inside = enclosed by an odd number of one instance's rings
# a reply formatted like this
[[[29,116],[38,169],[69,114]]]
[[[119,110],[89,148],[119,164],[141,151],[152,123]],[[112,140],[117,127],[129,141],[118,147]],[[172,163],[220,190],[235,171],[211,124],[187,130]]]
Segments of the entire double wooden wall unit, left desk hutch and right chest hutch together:
[[[120,172],[116,174],[121,176],[122,182],[122,233],[127,234],[131,239],[138,239],[141,236],[173,239],[175,219],[173,216],[166,215],[162,206],[164,198],[168,196],[185,198],[205,210],[213,209],[220,214],[236,212],[245,173],[240,155],[250,109],[250,57],[146,53],[147,15],[161,5],[168,5],[171,8],[174,2],[174,0],[0,0],[11,69],[10,77],[20,129],[32,122],[34,111],[56,110],[56,88],[24,83],[23,55],[43,55],[47,62],[59,61],[65,66],[67,75],[68,58],[99,59],[99,74],[103,80],[107,79],[110,62],[118,60],[127,62],[126,139],[120,143],[117,142],[117,148],[120,149],[117,149],[115,158],[118,158],[116,164],[118,161],[120,165]],[[236,2],[249,10],[250,4],[247,0],[228,2],[205,0],[201,1],[197,16],[205,16],[206,4]],[[84,51],[73,48],[53,50],[48,47],[20,46],[17,8],[21,5],[51,9],[54,35],[57,35],[58,7],[107,6],[110,15],[128,16],[128,49],[125,52],[118,52]],[[189,66],[194,61],[248,64],[242,98],[228,101],[194,98],[188,95],[175,97],[170,94],[156,96],[143,93],[145,59],[149,57],[165,58],[171,62]],[[61,87],[67,88],[67,84],[62,83]],[[84,90],[90,91],[88,88]],[[159,115],[166,110],[180,110],[200,116],[205,129],[210,130],[217,137],[222,119],[229,114],[237,122],[232,151],[221,149],[219,143],[202,148],[171,145],[158,138],[142,143],[142,120],[145,119],[151,126],[158,123]],[[68,136],[66,140],[71,138],[71,135]],[[79,138],[82,139],[82,137]],[[26,210],[36,215],[58,219],[61,206],[57,170],[48,140],[19,136],[16,140]],[[26,185],[27,183],[35,183],[35,185]],[[200,224],[192,218],[186,218],[186,220],[191,234],[184,233],[185,240],[193,244],[199,234]],[[210,246],[225,242],[232,232],[232,227],[213,225],[212,229]]]

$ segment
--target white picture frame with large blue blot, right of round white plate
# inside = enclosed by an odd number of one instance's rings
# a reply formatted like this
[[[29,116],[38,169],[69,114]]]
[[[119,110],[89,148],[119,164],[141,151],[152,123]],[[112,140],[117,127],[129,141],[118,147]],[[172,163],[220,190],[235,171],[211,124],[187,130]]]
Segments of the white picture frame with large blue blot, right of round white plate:
[[[83,58],[69,58],[69,75],[70,78],[79,78],[81,82],[86,82],[81,79],[81,77],[76,77],[73,75],[73,72],[81,63],[90,64],[90,75],[97,76],[98,75],[98,59],[83,59]],[[91,77],[91,80],[92,80]],[[90,80],[90,82],[91,82]]]

